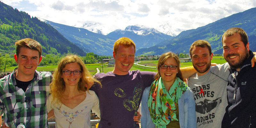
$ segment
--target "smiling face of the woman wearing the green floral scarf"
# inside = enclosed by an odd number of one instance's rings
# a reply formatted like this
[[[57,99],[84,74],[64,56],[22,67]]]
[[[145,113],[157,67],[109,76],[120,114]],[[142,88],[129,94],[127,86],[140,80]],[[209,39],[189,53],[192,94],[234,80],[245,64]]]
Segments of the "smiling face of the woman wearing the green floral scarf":
[[[162,64],[162,65],[178,66],[177,61],[172,57],[169,57],[168,59],[166,59],[164,61],[164,64]],[[162,81],[163,81],[164,85],[165,86],[172,85],[175,81],[175,77],[176,77],[179,67],[177,67],[176,69],[170,69],[169,67],[167,69],[162,69],[161,67],[158,67],[158,69],[159,69],[160,76],[162,77]]]

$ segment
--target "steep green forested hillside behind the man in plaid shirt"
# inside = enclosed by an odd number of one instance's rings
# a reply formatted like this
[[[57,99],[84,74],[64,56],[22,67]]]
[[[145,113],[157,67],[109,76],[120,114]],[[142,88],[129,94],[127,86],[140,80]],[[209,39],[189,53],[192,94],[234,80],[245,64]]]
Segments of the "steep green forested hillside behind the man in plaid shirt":
[[[15,41],[23,38],[38,41],[42,45],[43,55],[51,53],[86,55],[82,49],[64,38],[52,26],[0,2],[0,52],[15,53]]]

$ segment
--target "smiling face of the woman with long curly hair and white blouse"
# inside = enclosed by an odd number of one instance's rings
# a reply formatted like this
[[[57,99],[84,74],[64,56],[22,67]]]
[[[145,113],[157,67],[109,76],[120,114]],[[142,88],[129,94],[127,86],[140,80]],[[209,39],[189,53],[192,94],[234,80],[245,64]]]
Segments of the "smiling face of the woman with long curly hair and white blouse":
[[[82,77],[82,73],[79,75],[74,75],[73,72],[71,72],[70,75],[65,75],[63,71],[69,70],[69,71],[81,71],[81,67],[79,64],[73,62],[66,64],[66,66],[62,69],[62,75],[63,81],[65,82],[65,86],[77,86],[80,78]]]

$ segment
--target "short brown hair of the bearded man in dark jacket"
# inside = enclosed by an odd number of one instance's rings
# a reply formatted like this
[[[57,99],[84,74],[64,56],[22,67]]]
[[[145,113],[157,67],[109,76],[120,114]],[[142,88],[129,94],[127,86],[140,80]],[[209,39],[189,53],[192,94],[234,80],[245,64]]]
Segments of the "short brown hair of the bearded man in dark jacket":
[[[221,38],[222,46],[223,46],[223,37],[224,36],[225,37],[233,36],[236,33],[238,33],[241,36],[241,41],[244,43],[244,46],[246,47],[246,44],[249,42],[249,40],[248,40],[248,36],[247,36],[246,32],[242,28],[229,28],[226,32],[224,32],[224,34],[222,35],[222,38]]]

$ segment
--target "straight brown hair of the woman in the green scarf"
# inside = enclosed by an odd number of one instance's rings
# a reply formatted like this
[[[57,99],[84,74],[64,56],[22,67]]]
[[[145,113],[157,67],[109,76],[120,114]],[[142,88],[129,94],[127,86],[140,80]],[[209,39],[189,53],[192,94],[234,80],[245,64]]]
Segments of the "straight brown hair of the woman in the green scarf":
[[[178,68],[178,74],[176,75],[177,77],[180,78],[180,80],[184,80],[183,79],[183,76],[182,76],[182,72],[180,71],[180,59],[179,57],[174,54],[173,52],[165,52],[164,54],[162,54],[158,60],[158,63],[157,63],[157,73],[156,73],[156,76],[155,76],[155,79],[157,78],[160,78],[160,71],[159,71],[159,68],[160,68],[160,65],[164,64],[164,62],[168,59],[168,58],[174,58],[177,62],[177,68]]]

